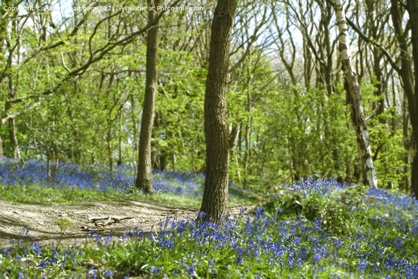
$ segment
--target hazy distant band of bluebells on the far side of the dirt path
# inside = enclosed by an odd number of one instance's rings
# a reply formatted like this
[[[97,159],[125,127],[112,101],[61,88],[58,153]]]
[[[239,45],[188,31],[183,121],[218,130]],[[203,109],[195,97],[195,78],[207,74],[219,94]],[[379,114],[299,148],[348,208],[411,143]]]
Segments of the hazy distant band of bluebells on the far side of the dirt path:
[[[42,185],[52,189],[132,193],[135,190],[133,173],[134,169],[125,165],[115,166],[111,172],[102,164],[80,166],[59,162],[56,172],[49,170],[47,175],[45,161],[31,159],[21,162],[7,158],[1,158],[0,161],[0,183],[10,187]],[[205,176],[201,173],[153,170],[154,189],[157,193],[200,199],[203,196],[204,180]],[[235,198],[249,197],[248,191],[235,184],[230,184],[229,193]]]

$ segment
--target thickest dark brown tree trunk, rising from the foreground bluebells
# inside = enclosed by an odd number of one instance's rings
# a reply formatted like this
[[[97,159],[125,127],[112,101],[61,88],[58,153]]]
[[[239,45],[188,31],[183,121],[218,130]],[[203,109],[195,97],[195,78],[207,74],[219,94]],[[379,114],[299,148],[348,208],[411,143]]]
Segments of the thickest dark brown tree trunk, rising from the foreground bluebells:
[[[237,0],[218,0],[210,36],[209,71],[205,93],[206,180],[201,212],[221,221],[228,200],[229,131],[226,93],[229,44]]]

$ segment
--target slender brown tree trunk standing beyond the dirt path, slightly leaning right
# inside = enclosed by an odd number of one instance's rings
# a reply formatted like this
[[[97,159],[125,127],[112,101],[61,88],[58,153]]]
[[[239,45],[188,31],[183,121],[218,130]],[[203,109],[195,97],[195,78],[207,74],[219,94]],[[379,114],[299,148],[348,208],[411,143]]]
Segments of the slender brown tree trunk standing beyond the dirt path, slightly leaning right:
[[[148,7],[161,6],[161,0],[148,0]],[[148,10],[148,22],[154,22],[157,9]],[[153,177],[151,163],[151,135],[153,131],[153,115],[155,111],[155,95],[157,93],[157,49],[158,23],[148,30],[146,42],[146,82],[144,109],[141,120],[141,135],[139,136],[138,173],[135,186],[145,193],[153,194]]]

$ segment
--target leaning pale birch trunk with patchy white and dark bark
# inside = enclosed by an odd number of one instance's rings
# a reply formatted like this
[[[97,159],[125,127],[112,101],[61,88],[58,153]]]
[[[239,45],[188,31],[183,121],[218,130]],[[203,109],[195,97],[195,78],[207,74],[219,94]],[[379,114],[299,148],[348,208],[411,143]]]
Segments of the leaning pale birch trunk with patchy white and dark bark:
[[[359,147],[360,170],[363,183],[371,187],[378,186],[378,178],[373,166],[373,156],[371,154],[369,130],[364,117],[362,103],[362,93],[357,82],[353,67],[351,65],[350,45],[348,43],[348,26],[346,15],[343,10],[343,1],[337,0],[335,6],[336,22],[339,28],[339,51],[341,51],[341,64],[344,74],[344,88],[349,98],[353,124],[355,126],[357,144]]]

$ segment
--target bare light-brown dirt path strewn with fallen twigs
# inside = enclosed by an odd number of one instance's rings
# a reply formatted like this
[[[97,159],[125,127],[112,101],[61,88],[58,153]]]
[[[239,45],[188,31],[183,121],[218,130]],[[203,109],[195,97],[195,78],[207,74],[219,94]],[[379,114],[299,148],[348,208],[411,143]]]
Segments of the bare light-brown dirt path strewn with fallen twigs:
[[[237,214],[240,207],[229,208],[229,214]],[[65,231],[63,244],[74,244],[86,239],[86,232],[98,231],[102,235],[112,232],[122,235],[125,229],[139,227],[149,231],[152,225],[165,221],[167,216],[177,216],[185,220],[187,216],[194,218],[197,208],[167,207],[152,201],[126,200],[124,202],[80,202],[77,205],[12,205],[0,201],[0,248],[10,246],[10,239],[27,239],[22,237],[22,229],[26,225],[33,241],[42,244],[56,243],[61,236],[57,221],[69,219],[73,226]],[[113,223],[111,217],[129,217]],[[109,225],[95,225],[89,218],[107,217],[96,223],[111,221]]]

